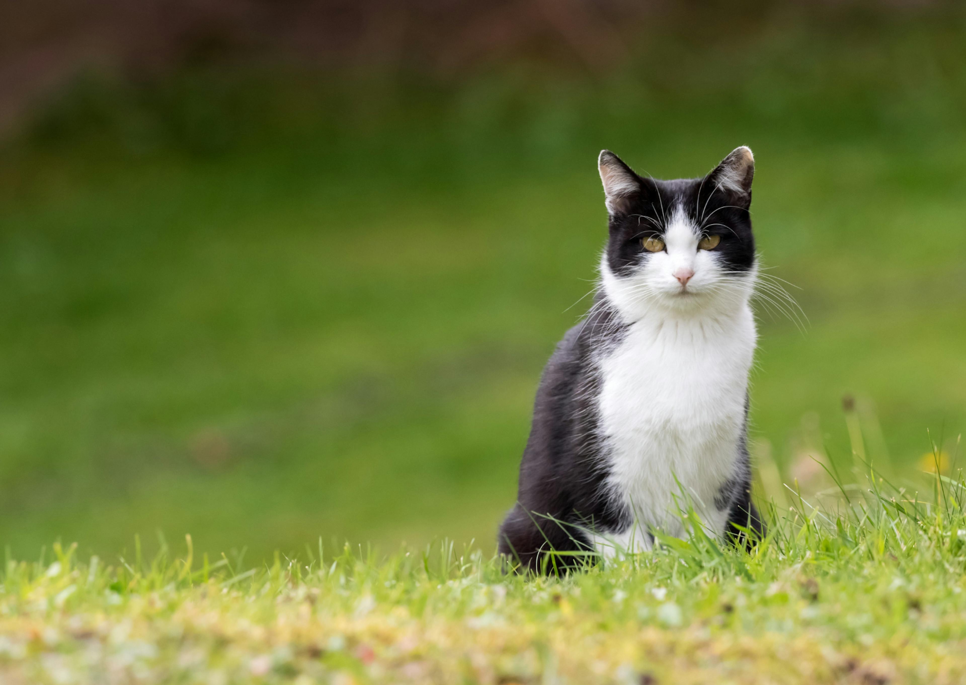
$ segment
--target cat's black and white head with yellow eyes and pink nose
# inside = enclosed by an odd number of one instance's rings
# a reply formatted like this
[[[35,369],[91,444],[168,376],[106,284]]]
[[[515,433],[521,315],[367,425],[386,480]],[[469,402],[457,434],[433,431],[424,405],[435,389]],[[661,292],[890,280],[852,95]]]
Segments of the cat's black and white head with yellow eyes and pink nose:
[[[748,300],[757,272],[750,149],[737,148],[698,179],[641,177],[608,150],[598,166],[610,214],[603,287],[626,319]]]

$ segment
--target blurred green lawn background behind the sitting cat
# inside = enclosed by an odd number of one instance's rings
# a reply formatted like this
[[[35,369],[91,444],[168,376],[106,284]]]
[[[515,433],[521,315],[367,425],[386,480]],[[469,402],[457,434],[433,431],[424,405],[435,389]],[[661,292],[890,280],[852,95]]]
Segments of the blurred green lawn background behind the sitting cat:
[[[540,371],[606,237],[601,148],[663,178],[753,148],[762,260],[808,316],[758,307],[759,462],[803,482],[808,455],[851,464],[845,394],[888,473],[913,478],[933,444],[955,458],[961,6],[443,8],[432,25],[459,44],[526,10],[500,26],[529,33],[459,59],[378,7],[383,33],[360,30],[361,47],[328,19],[320,40],[339,49],[311,57],[208,27],[149,67],[71,57],[8,99],[14,557],[56,538],[112,554],[156,531],[248,560],[320,536],[493,549]],[[10,69],[17,54],[0,51]]]

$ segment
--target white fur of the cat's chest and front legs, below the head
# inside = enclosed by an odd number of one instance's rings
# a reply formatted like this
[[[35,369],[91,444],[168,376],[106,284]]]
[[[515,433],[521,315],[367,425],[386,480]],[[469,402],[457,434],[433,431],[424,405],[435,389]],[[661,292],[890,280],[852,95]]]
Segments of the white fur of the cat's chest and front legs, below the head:
[[[721,319],[644,318],[600,359],[608,487],[636,517],[611,542],[646,548],[650,527],[680,535],[689,504],[724,532],[714,500],[735,470],[755,337],[747,304]]]

